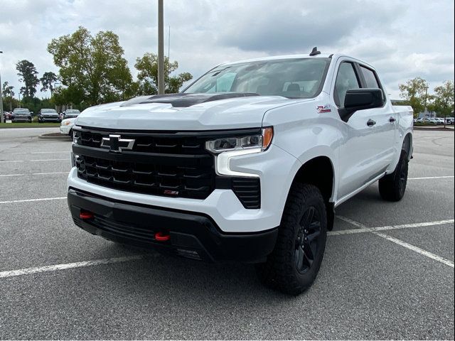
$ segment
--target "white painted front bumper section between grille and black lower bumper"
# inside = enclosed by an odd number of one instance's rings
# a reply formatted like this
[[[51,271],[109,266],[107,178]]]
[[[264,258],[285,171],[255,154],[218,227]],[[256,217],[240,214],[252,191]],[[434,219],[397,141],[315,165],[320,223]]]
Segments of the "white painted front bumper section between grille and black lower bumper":
[[[261,207],[254,210],[245,209],[230,189],[217,188],[203,200],[148,195],[89,183],[77,177],[75,167],[68,175],[68,188],[77,188],[112,200],[164,207],[165,210],[197,212],[211,217],[223,233],[255,233],[279,226],[291,182],[300,166],[294,156],[273,144],[263,153],[239,156],[232,160],[233,170],[260,176]]]

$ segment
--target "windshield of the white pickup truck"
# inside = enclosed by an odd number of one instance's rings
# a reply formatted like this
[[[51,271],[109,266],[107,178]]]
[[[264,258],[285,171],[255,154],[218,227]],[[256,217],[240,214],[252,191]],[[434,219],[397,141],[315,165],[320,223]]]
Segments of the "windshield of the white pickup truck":
[[[329,63],[329,58],[299,58],[220,65],[183,92],[254,92],[311,98],[321,91]]]

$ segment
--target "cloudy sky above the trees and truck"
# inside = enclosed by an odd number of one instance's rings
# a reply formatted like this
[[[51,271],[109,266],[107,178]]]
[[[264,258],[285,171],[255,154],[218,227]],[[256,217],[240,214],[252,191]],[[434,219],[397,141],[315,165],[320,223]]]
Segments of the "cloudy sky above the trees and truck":
[[[136,75],[135,59],[157,50],[156,10],[156,0],[0,0],[1,80],[17,97],[18,60],[34,63],[40,77],[57,72],[47,45],[77,26],[117,33]],[[166,54],[171,26],[171,60],[194,77],[223,62],[317,45],[374,65],[393,98],[413,77],[430,91],[454,79],[453,0],[164,0],[164,23]]]

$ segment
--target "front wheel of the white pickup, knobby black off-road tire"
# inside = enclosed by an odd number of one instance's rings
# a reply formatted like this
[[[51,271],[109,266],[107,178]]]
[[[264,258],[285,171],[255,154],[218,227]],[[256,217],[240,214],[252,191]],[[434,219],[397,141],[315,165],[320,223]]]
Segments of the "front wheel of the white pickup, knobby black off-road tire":
[[[259,279],[284,293],[298,295],[314,282],[326,248],[326,204],[314,185],[292,186],[279,226],[277,244],[263,264]]]

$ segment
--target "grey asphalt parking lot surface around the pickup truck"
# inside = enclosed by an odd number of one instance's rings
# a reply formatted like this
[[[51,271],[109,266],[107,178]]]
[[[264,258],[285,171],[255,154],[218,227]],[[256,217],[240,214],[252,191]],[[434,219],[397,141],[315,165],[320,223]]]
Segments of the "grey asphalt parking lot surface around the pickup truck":
[[[314,286],[144,253],[76,227],[70,141],[0,129],[1,339],[454,339],[454,133],[415,131],[405,198],[337,209]]]

